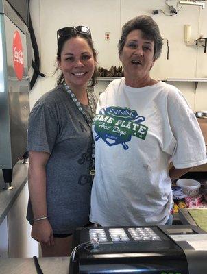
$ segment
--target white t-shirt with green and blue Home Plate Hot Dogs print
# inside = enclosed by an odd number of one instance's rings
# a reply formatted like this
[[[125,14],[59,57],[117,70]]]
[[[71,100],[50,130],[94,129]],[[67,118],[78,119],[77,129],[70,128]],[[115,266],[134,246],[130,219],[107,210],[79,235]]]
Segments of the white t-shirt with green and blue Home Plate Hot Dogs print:
[[[94,119],[95,179],[90,221],[164,225],[172,206],[169,162],[206,163],[202,132],[182,93],[169,84],[108,85]]]

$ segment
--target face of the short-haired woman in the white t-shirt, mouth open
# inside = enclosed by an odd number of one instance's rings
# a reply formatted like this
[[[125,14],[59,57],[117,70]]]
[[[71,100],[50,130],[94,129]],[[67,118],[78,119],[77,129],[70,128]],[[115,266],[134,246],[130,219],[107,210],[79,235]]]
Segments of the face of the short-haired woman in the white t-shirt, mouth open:
[[[148,79],[154,65],[154,41],[143,38],[140,29],[127,35],[119,58],[123,64],[125,79]]]

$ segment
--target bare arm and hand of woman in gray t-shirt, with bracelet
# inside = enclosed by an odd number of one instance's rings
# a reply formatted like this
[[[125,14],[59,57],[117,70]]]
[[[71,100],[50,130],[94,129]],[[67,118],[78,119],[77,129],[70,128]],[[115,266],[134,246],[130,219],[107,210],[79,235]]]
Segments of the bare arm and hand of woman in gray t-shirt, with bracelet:
[[[45,166],[49,156],[47,152],[29,151],[29,195],[34,219],[47,216]],[[53,230],[48,219],[34,221],[32,238],[47,247],[53,245]]]

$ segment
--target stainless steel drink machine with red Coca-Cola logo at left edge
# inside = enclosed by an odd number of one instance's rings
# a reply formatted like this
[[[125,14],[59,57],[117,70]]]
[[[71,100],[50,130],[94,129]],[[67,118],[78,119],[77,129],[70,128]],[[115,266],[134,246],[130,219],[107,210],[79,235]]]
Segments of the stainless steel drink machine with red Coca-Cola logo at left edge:
[[[2,169],[7,177],[6,186],[12,168],[27,151],[28,68],[32,60],[28,58],[27,21],[12,2],[21,1],[0,0],[0,173]]]

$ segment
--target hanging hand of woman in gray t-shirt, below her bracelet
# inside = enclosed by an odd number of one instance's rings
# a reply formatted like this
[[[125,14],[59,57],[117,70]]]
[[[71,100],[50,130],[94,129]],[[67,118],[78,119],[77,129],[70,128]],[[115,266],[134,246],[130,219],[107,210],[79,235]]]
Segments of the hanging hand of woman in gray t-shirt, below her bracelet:
[[[53,229],[47,219],[34,222],[31,236],[46,247],[54,245]]]

